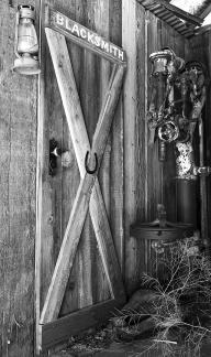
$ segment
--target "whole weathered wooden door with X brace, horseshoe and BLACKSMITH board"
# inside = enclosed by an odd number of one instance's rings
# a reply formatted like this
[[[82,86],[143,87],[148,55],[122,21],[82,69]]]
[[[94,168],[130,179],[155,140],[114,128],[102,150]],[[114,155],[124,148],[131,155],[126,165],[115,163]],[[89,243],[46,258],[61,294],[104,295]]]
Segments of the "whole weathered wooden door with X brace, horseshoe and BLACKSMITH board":
[[[90,30],[48,7],[43,28],[37,147],[37,351],[102,323],[125,302],[120,255],[103,197],[109,186],[101,190],[99,182],[101,178],[103,183],[104,171],[110,175],[103,155],[111,145],[109,132],[123,82],[125,53],[104,39],[98,40],[103,41],[99,48],[90,40],[95,39]],[[111,46],[116,48],[113,54],[108,51]],[[103,91],[100,84],[104,78],[99,71],[93,72],[99,61],[102,64],[101,56],[114,63],[112,71],[107,65],[108,88]]]

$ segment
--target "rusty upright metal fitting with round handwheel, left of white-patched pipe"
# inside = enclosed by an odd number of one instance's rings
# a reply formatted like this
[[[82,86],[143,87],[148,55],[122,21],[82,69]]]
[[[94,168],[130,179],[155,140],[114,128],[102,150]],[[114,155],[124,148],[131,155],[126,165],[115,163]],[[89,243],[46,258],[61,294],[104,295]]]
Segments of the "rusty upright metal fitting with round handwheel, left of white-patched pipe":
[[[153,89],[147,113],[149,128],[149,144],[155,142],[155,137],[160,141],[171,142],[179,137],[179,128],[174,112],[174,82],[177,74],[184,68],[185,62],[177,57],[174,51],[165,47],[152,53],[152,80]],[[162,94],[162,96],[160,96]],[[159,142],[159,161],[165,161],[166,147]]]

